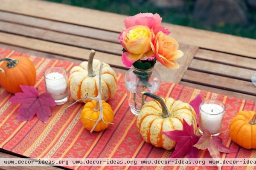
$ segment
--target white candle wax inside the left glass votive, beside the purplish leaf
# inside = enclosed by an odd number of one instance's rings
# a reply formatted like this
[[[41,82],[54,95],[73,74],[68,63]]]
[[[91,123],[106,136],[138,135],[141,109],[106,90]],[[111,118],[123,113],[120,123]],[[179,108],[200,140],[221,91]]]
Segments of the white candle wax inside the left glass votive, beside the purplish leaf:
[[[51,93],[52,98],[54,98],[55,101],[67,97],[68,88],[64,75],[58,72],[51,72],[46,76],[45,84],[47,92]]]

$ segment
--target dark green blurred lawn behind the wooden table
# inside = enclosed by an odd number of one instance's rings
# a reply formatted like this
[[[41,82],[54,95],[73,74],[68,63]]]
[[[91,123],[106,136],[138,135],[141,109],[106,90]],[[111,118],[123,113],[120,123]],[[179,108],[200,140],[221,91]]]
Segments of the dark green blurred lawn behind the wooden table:
[[[193,0],[186,0],[186,6],[181,9],[167,9],[154,6],[150,0],[47,0],[57,3],[64,3],[73,6],[80,6],[100,11],[113,12],[125,15],[137,13],[158,13],[163,18],[163,22],[173,23],[182,26],[189,26],[198,29],[206,29],[215,32],[222,32],[231,35],[249,37],[256,39],[256,11],[249,10],[250,24],[246,26],[228,25],[224,22],[214,26],[205,26],[198,23],[192,15]]]

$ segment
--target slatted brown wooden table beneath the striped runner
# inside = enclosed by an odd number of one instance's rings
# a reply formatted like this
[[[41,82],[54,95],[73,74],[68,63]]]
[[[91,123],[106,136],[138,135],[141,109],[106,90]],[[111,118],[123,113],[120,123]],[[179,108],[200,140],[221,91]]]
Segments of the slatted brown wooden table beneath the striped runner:
[[[90,49],[95,49],[95,58],[125,74],[128,68],[122,64],[117,40],[125,17],[38,0],[0,0],[0,47],[76,63],[86,61]],[[256,86],[250,82],[256,72],[256,40],[168,23],[164,26],[180,43],[184,56],[178,60],[177,70],[158,64],[162,81],[256,101]],[[0,157],[15,156],[2,150]]]

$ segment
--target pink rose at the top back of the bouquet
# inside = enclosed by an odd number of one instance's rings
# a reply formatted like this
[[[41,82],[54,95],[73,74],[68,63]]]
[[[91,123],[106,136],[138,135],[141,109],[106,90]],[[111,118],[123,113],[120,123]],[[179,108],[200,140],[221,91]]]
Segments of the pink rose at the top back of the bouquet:
[[[152,29],[154,34],[162,31],[164,34],[169,35],[169,30],[161,26],[161,22],[162,18],[160,15],[152,13],[140,13],[131,17],[127,17],[124,20],[125,27],[127,29],[131,26],[143,25],[148,26],[149,29]]]

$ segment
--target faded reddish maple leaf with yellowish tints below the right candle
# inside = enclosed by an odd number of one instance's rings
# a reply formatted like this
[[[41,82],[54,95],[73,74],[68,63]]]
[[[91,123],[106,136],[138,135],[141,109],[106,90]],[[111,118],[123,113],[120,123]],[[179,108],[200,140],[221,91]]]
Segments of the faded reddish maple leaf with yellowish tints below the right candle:
[[[204,130],[204,134],[194,145],[194,147],[201,150],[208,149],[212,158],[220,158],[220,152],[236,153],[236,151],[230,150],[228,147],[222,144],[222,139],[219,136],[212,136],[207,130]]]

